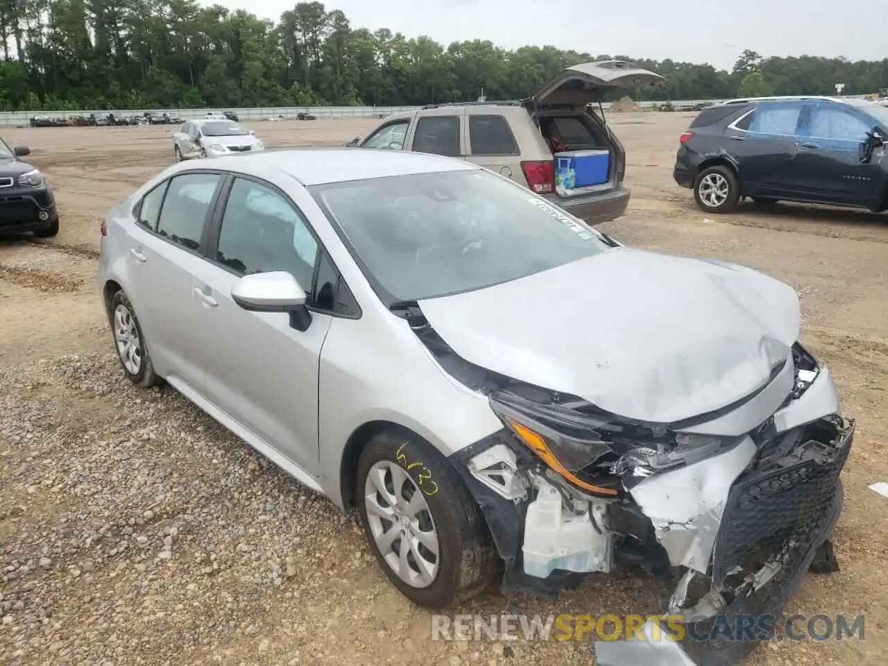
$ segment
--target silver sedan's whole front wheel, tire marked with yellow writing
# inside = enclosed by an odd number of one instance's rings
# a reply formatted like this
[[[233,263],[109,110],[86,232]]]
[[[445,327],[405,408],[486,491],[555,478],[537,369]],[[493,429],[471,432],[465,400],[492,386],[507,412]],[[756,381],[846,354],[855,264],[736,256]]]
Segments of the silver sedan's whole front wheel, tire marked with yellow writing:
[[[451,607],[501,570],[487,523],[456,470],[424,440],[382,432],[358,463],[358,510],[370,549],[416,605]]]

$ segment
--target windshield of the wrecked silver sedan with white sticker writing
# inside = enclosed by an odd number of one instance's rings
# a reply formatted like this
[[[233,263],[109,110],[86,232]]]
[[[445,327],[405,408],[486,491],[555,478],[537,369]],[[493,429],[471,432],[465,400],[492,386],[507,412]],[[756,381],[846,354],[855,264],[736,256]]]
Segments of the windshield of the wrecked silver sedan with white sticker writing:
[[[610,247],[591,227],[484,170],[309,189],[385,305],[483,289]]]

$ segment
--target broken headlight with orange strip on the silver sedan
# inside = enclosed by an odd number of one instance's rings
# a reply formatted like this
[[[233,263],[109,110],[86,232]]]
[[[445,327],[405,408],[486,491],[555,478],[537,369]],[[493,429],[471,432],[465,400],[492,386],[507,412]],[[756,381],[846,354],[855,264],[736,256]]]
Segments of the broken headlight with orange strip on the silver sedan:
[[[538,404],[511,392],[492,393],[490,406],[543,463],[577,488],[602,496],[619,493],[616,483],[601,485],[603,478],[646,477],[693,464],[733,448],[742,439],[671,432],[661,424],[625,423],[597,413],[591,405],[578,411],[563,404]],[[591,473],[598,482],[592,482]]]

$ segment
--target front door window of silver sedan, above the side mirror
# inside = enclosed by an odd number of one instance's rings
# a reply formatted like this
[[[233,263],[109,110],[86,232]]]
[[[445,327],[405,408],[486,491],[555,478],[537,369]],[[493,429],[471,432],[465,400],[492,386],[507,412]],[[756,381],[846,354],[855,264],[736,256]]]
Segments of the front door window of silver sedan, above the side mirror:
[[[219,229],[216,260],[237,274],[286,271],[308,292],[318,243],[288,199],[235,178]]]

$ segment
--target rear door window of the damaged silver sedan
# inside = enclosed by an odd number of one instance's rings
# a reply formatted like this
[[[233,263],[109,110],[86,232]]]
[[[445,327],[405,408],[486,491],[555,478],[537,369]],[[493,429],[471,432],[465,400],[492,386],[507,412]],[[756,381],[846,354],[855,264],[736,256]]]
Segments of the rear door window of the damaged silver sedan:
[[[188,250],[200,248],[203,225],[220,179],[215,173],[186,173],[172,178],[157,233]]]

